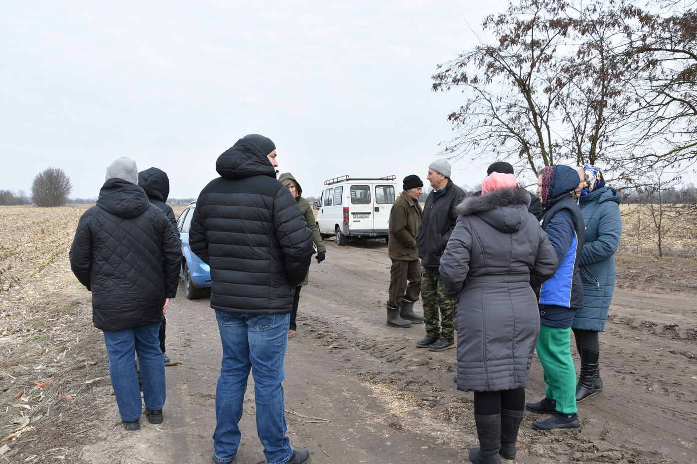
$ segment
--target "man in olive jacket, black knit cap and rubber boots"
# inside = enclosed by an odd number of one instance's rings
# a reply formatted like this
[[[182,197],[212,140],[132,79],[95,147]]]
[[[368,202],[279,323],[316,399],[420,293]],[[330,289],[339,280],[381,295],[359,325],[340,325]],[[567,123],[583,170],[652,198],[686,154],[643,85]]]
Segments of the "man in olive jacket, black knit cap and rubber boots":
[[[388,326],[407,328],[424,318],[414,312],[414,303],[421,291],[421,264],[416,248],[416,234],[424,213],[419,197],[424,183],[418,175],[408,175],[402,182],[402,192],[390,209],[388,255],[390,287],[388,289]]]

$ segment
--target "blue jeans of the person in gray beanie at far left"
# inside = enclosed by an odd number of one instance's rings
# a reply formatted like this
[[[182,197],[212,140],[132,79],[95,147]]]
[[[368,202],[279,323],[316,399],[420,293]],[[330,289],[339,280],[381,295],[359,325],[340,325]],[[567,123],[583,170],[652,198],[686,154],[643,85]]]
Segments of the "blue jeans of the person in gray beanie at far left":
[[[109,354],[109,374],[112,376],[112,387],[122,420],[135,420],[141,413],[142,401],[135,372],[135,353],[138,354],[140,363],[145,407],[157,410],[164,406],[166,387],[159,333],[159,322],[123,330],[104,331],[104,342]]]

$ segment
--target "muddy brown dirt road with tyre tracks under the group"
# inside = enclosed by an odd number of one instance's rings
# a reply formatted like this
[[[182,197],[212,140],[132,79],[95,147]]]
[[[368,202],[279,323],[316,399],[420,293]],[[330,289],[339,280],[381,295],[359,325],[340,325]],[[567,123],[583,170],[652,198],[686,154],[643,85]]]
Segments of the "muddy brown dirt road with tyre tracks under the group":
[[[390,260],[384,241],[328,241],[300,298],[298,336],[286,354],[286,418],[294,447],[312,463],[468,462],[477,444],[472,394],[456,390],[455,350],[417,349],[423,324],[385,326]],[[210,463],[220,339],[208,300],[171,305],[164,423],[140,431],[118,424],[113,397],[103,426],[87,432],[89,463]],[[578,431],[538,432],[526,413],[518,463],[697,462],[697,310],[695,294],[618,289],[601,335],[604,392],[579,404]],[[417,308],[420,310],[420,306]],[[577,363],[578,366],[578,363]],[[264,463],[254,424],[254,390],[245,399],[237,463]],[[105,395],[108,385],[100,387]],[[544,394],[533,362],[528,399]],[[509,461],[512,462],[512,461]]]

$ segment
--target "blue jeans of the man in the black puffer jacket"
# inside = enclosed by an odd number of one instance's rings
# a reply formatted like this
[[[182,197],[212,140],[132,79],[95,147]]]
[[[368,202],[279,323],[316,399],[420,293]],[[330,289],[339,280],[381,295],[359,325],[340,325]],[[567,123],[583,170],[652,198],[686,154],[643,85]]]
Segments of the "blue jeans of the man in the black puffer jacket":
[[[215,459],[231,461],[237,454],[242,433],[238,422],[247,390],[247,377],[254,376],[256,433],[268,464],[284,464],[293,456],[286,437],[283,362],[288,346],[290,314],[236,314],[215,311],[222,340],[222,367],[215,389]]]

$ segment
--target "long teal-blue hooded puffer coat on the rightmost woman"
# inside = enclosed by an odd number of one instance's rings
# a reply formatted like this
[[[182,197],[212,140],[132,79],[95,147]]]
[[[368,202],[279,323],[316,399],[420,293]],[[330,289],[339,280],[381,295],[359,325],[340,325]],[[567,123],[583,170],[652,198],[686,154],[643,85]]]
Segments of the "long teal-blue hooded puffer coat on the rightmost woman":
[[[582,196],[579,207],[585,221],[581,252],[583,309],[576,311],[572,327],[601,332],[615,289],[615,252],[622,235],[620,195],[604,186]]]

